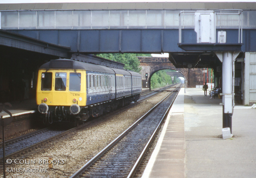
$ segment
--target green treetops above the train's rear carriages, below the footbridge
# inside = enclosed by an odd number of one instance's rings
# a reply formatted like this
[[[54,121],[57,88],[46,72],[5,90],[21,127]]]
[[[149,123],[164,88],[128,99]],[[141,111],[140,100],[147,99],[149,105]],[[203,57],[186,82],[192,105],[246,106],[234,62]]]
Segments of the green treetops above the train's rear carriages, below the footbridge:
[[[124,69],[132,70],[134,72],[140,72],[140,61],[137,56],[150,56],[150,54],[133,54],[133,53],[108,53],[97,54],[97,56],[109,59],[111,61],[117,61],[124,64]]]

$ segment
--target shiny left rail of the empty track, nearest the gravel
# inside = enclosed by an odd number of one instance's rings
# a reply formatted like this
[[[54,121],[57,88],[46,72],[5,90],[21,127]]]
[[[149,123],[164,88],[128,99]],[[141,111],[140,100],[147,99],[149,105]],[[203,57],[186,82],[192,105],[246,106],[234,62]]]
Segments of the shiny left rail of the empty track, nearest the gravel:
[[[178,87],[177,87],[178,88]],[[176,88],[176,89],[177,89]],[[174,91],[174,90],[173,90]],[[172,92],[173,92],[172,91]],[[142,117],[140,117],[135,123],[133,123],[129,128],[127,128],[123,133],[121,133],[116,139],[114,139],[111,143],[109,143],[106,147],[104,147],[99,153],[97,153],[91,160],[87,161],[84,166],[82,166],[80,169],[78,169],[73,175],[71,175],[69,178],[77,178],[79,177],[81,174],[83,174],[83,172],[89,168],[96,160],[98,160],[104,153],[106,153],[112,146],[114,146],[120,139],[122,139],[125,135],[127,135],[138,123],[140,123],[144,118],[146,118],[153,110],[156,109],[156,107],[161,104],[166,98],[168,98],[172,92],[170,92],[170,94],[168,94],[168,96],[166,96],[164,99],[162,99],[159,103],[157,103],[153,108],[151,108],[147,113],[145,113]]]

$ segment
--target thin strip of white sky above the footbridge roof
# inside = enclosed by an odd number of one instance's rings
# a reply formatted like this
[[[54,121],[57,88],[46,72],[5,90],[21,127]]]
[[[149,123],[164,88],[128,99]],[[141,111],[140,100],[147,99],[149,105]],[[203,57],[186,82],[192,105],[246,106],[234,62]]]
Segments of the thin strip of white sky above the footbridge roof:
[[[5,3],[110,3],[110,2],[256,2],[256,0],[0,0]]]

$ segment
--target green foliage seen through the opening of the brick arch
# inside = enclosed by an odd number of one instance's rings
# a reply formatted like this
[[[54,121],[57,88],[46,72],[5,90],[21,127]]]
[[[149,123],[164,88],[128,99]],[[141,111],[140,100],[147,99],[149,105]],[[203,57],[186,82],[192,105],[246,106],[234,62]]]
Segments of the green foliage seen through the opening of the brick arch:
[[[166,85],[172,84],[172,77],[166,74],[167,70],[157,71],[152,75],[150,83],[151,89],[164,87]],[[174,80],[176,82],[176,80]]]

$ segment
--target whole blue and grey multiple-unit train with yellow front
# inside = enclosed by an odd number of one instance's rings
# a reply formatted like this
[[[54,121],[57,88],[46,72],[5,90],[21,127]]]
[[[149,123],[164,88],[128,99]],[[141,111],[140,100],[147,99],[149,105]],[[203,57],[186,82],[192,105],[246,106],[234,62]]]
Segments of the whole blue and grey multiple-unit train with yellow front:
[[[132,101],[141,93],[141,75],[69,59],[51,60],[38,71],[36,103],[44,123],[78,125]]]

